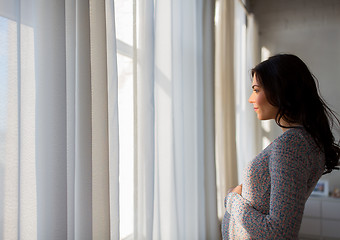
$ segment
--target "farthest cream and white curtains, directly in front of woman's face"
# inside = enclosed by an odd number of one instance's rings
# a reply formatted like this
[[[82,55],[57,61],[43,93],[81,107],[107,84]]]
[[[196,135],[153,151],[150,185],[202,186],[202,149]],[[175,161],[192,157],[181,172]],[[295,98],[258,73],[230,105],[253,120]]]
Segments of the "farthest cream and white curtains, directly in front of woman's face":
[[[261,150],[259,123],[248,103],[250,69],[259,62],[259,33],[254,16],[247,12],[243,1],[216,3],[215,122],[221,219],[227,190],[242,183],[244,167]]]

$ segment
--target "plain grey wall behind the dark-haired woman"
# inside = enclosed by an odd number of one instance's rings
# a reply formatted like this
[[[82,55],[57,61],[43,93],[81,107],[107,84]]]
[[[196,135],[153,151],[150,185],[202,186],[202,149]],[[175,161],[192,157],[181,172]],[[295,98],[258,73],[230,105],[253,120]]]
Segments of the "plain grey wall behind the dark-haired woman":
[[[259,25],[260,46],[302,58],[318,78],[321,95],[340,114],[340,1],[250,0],[248,7]],[[270,126],[273,140],[281,129]],[[339,129],[334,134],[339,139]],[[330,190],[340,187],[340,171],[323,178]]]

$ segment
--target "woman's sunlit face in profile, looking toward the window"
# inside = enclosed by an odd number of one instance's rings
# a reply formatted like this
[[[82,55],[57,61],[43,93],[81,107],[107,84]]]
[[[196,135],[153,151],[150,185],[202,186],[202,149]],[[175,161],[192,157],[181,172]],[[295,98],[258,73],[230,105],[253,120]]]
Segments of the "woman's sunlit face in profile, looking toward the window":
[[[255,74],[252,89],[253,93],[250,95],[248,101],[253,104],[257,118],[260,120],[275,119],[278,108],[268,102],[264,89],[258,84]]]

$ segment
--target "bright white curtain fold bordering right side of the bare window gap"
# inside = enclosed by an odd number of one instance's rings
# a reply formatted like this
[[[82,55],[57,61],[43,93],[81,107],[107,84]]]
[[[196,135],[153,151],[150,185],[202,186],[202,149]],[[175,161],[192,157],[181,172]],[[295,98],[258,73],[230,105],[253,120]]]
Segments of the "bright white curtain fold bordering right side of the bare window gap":
[[[138,2],[136,239],[152,239],[154,222],[154,1]]]

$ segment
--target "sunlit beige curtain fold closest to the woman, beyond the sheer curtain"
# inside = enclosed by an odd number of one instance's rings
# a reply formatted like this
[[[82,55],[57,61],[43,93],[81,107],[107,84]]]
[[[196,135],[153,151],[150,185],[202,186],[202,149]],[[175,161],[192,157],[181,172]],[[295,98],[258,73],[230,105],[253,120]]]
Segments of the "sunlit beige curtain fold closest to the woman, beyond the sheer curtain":
[[[225,213],[224,197],[238,184],[234,87],[234,1],[217,1],[215,46],[215,139],[218,216]]]

